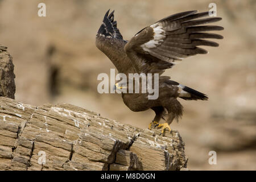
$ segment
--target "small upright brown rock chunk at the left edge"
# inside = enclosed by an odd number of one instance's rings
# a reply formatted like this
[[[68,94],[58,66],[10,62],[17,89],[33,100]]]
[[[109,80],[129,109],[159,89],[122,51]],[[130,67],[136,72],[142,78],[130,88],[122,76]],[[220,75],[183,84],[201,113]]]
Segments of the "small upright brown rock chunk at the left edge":
[[[0,96],[14,98],[14,65],[7,47],[0,46]]]

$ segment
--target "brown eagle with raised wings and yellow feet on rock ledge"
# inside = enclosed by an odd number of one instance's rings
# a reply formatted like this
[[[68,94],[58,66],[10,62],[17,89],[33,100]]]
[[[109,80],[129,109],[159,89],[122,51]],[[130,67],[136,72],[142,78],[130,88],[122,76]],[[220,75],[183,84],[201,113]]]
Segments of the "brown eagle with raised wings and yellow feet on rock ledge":
[[[167,16],[143,28],[127,41],[123,39],[117,28],[114,11],[110,14],[109,11],[106,12],[96,35],[97,48],[108,56],[119,73],[127,77],[129,73],[159,74],[157,99],[149,100],[148,92],[122,92],[123,102],[132,111],[152,109],[155,117],[148,128],[162,127],[160,135],[166,130],[171,132],[170,124],[174,119],[179,121],[183,114],[183,106],[177,98],[208,100],[208,97],[162,74],[185,57],[208,53],[198,46],[218,47],[218,43],[207,39],[223,39],[223,36],[209,31],[220,31],[224,28],[203,24],[218,22],[221,18],[210,17],[208,11],[203,13],[198,13],[197,10],[185,11]],[[116,82],[115,88],[126,88],[128,84],[124,85],[123,82],[123,80]],[[160,119],[164,119],[165,122],[159,124]]]

